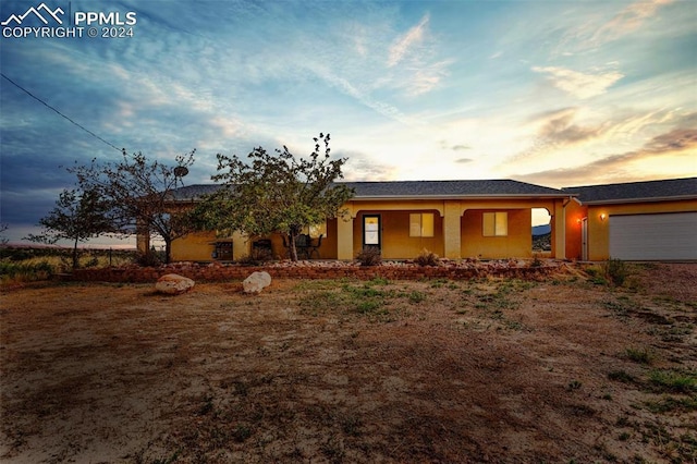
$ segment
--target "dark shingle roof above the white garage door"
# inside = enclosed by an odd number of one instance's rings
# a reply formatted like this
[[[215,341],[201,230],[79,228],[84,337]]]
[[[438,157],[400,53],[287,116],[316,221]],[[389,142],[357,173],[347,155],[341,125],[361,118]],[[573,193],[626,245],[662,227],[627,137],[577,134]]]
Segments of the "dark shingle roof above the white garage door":
[[[629,182],[624,184],[585,185],[564,187],[562,191],[578,195],[578,199],[583,204],[661,202],[668,199],[697,198],[697,178]]]

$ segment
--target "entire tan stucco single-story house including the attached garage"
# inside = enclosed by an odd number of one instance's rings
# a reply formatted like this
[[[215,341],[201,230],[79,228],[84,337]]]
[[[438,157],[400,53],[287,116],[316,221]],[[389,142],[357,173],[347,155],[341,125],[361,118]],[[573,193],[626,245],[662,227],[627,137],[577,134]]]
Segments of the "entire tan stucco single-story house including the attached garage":
[[[351,260],[364,246],[384,259],[413,259],[424,248],[451,259],[529,258],[531,210],[550,215],[558,259],[697,259],[697,178],[561,190],[513,180],[346,182],[355,196],[347,213],[305,231],[311,258]],[[191,205],[217,185],[175,191]],[[319,236],[321,235],[321,243]],[[172,259],[232,261],[264,243],[273,257],[288,248],[280,234],[189,234],[172,244]]]

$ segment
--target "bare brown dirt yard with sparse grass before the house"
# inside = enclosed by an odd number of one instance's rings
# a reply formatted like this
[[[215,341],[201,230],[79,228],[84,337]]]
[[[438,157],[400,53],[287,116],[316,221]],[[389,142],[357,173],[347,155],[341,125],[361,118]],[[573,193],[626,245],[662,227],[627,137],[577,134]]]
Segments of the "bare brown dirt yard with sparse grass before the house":
[[[0,295],[3,463],[697,462],[697,265]]]

